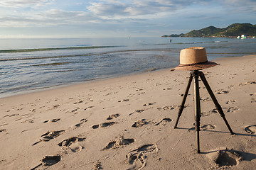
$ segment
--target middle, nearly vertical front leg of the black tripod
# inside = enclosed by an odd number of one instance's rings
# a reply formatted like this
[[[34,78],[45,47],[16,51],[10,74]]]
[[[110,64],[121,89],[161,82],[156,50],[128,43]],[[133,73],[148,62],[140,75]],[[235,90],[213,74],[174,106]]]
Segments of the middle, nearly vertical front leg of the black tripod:
[[[201,108],[200,108],[200,95],[199,95],[199,83],[198,83],[198,71],[195,71],[194,74],[194,99],[195,99],[195,122],[196,122],[196,140],[197,140],[197,152],[200,153],[200,142],[199,142],[199,131],[200,131],[200,117],[201,117]]]

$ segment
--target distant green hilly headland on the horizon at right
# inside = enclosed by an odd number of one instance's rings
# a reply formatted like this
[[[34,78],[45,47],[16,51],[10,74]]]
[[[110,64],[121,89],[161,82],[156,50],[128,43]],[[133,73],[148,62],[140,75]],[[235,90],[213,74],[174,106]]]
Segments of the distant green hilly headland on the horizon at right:
[[[216,28],[209,26],[201,30],[191,30],[188,33],[163,35],[161,37],[226,37],[237,38],[240,35],[246,35],[247,37],[256,36],[256,25],[250,23],[233,23],[227,28]]]

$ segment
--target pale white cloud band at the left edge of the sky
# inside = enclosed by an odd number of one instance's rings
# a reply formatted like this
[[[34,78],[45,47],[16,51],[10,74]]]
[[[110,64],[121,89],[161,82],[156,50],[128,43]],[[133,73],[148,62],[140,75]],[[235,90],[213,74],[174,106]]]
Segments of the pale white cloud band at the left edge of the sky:
[[[48,11],[29,11],[19,15],[9,14],[0,16],[0,28],[4,27],[44,27],[64,25],[86,25],[100,23],[101,18],[92,16],[85,11],[64,11],[61,9],[50,9]]]

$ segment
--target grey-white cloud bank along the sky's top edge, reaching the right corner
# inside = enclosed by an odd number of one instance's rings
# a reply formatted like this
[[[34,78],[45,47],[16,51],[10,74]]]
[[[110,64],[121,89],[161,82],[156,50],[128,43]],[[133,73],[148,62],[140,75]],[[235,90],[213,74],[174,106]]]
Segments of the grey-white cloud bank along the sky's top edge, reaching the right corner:
[[[234,7],[242,11],[253,11],[256,8],[255,0],[131,0],[116,1],[102,0],[90,4],[87,9],[102,17],[129,18],[137,16],[148,18],[148,16],[156,16],[159,13],[174,13],[183,8],[193,6],[211,6],[219,5],[223,7]]]

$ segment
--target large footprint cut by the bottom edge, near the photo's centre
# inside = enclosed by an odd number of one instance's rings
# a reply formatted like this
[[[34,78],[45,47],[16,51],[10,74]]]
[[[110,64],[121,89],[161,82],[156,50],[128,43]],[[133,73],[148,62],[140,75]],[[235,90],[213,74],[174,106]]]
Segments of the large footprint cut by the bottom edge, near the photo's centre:
[[[127,163],[132,165],[130,170],[132,169],[142,169],[146,166],[146,154],[157,152],[159,149],[157,148],[156,144],[149,144],[149,145],[142,145],[138,149],[134,149],[129,152],[127,157]]]

